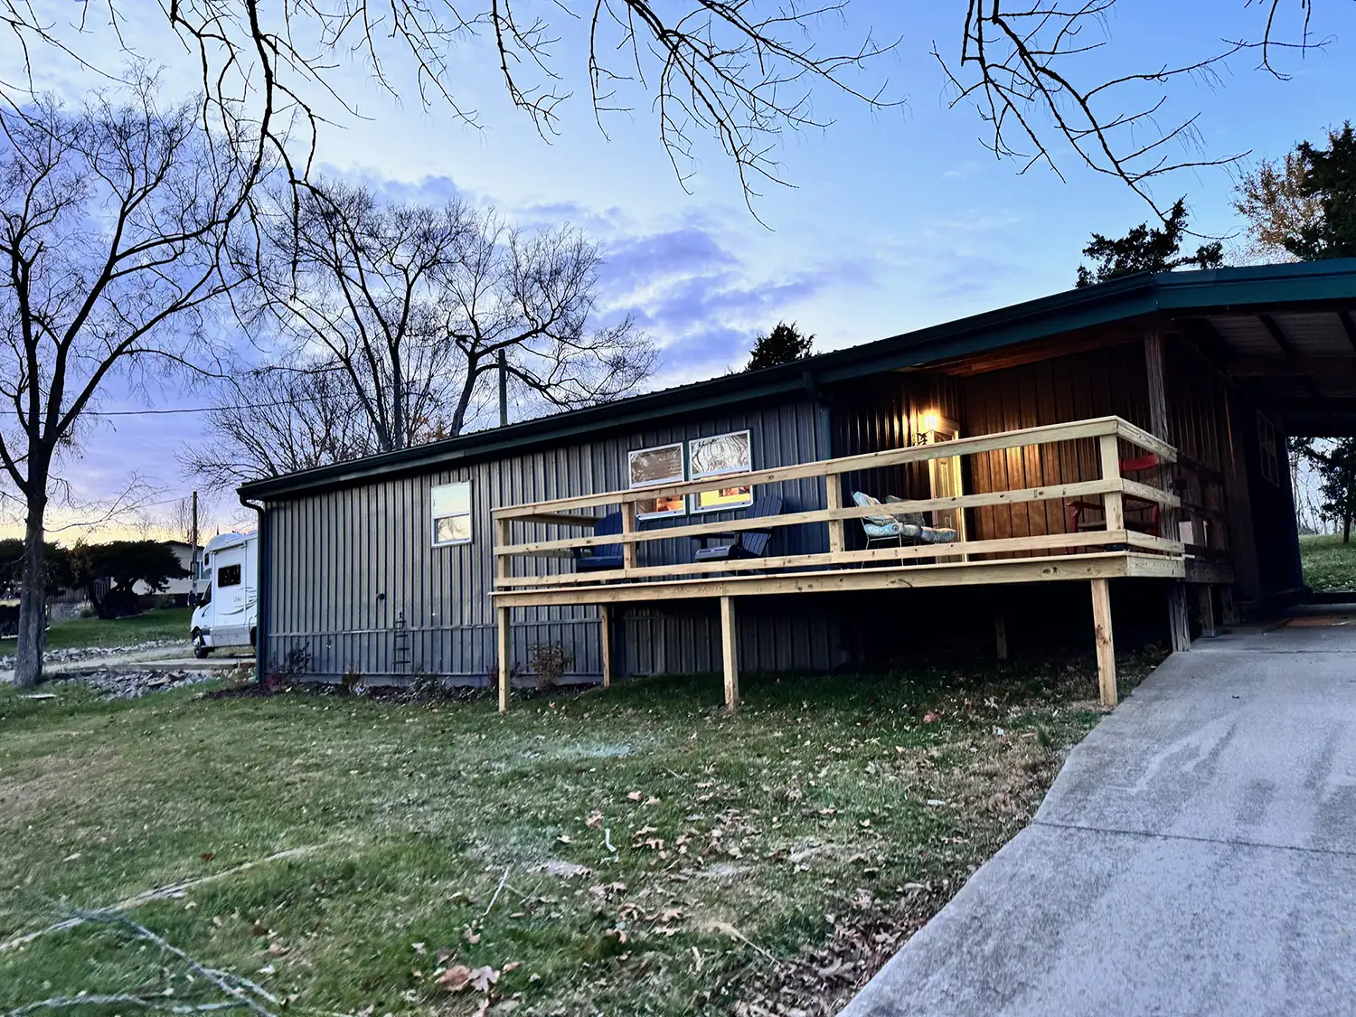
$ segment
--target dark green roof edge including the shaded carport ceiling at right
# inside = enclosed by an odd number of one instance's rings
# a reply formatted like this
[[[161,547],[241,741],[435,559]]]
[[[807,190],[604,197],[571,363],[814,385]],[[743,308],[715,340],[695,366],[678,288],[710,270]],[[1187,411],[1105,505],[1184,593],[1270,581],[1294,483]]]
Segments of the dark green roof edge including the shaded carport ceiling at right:
[[[822,385],[1155,317],[1230,370],[1287,433],[1356,434],[1353,316],[1356,259],[1143,273],[778,367],[258,480],[241,487],[240,496],[270,500],[445,469],[742,403],[814,396]]]

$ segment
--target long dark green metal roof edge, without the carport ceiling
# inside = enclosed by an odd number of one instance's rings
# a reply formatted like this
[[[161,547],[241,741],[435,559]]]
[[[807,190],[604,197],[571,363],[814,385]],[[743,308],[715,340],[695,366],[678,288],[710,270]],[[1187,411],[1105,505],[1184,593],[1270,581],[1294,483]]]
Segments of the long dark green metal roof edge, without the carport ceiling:
[[[419,473],[471,460],[515,454],[601,433],[652,424],[706,410],[792,397],[820,384],[984,353],[1003,346],[1146,315],[1280,311],[1356,301],[1356,259],[1207,271],[1142,273],[1071,289],[914,332],[819,354],[763,370],[650,392],[602,405],[464,434],[428,445],[244,484],[241,499],[277,499],[369,480]]]

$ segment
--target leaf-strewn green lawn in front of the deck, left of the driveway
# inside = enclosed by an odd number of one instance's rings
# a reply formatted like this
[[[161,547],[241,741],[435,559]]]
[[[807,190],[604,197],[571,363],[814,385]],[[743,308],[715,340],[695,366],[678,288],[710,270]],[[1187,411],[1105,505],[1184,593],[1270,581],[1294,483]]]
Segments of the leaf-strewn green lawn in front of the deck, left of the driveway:
[[[1090,659],[750,677],[735,717],[713,677],[507,717],[0,690],[0,941],[214,877],[129,914],[289,1013],[833,1013],[1031,818],[1096,687]],[[492,993],[439,984],[458,964]],[[221,998],[106,923],[0,948],[0,1012],[171,989]]]

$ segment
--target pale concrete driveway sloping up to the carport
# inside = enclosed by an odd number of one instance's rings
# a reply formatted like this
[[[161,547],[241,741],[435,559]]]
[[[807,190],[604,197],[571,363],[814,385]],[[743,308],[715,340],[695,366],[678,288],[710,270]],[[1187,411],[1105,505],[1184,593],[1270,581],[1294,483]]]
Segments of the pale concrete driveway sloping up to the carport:
[[[1356,1014],[1356,617],[1296,622],[1169,659],[845,1017]]]

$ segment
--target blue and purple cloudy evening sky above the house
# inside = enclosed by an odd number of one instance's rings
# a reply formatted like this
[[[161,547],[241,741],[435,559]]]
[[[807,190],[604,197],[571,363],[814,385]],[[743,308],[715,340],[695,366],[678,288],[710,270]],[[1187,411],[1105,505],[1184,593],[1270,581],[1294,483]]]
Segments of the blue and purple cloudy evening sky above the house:
[[[548,14],[559,9],[532,0],[525,8],[537,5]],[[72,5],[53,0],[46,7],[68,19]],[[1254,35],[1264,7],[1243,0],[1123,3],[1105,26],[1108,45],[1079,71],[1092,80],[1197,60],[1219,52],[1222,38]],[[780,138],[776,159],[788,186],[761,186],[753,212],[731,161],[713,144],[698,145],[692,175],[677,179],[644,95],[632,96],[633,111],[603,117],[599,129],[580,75],[582,28],[568,23],[553,66],[574,95],[561,107],[555,137],[541,137],[511,107],[492,53],[468,42],[443,83],[464,108],[477,110],[480,126],[458,121],[439,102],[424,108],[403,65],[388,66],[399,92],[393,98],[366,68],[340,61],[331,80],[358,115],[316,98],[332,121],[323,125],[316,160],[325,174],[392,198],[438,203],[461,197],[525,226],[568,222],[587,231],[606,252],[602,309],[635,315],[660,347],[655,388],[738,369],[754,336],[778,320],[812,332],[816,350],[839,348],[1067,289],[1090,232],[1121,235],[1151,214],[1124,183],[1078,165],[1069,151],[1055,151],[1059,176],[1040,165],[1021,172],[1020,161],[984,149],[986,125],[967,104],[949,108],[945,73],[932,56],[934,45],[944,57],[956,54],[963,9],[959,0],[850,0],[842,19],[812,26],[816,43],[829,49],[868,31],[898,41],[853,83],[883,87],[900,104],[871,110],[816,88],[812,113],[830,126]],[[174,98],[194,89],[197,72],[161,18],[159,5],[137,4],[121,31],[130,46],[163,61],[164,89]],[[1321,138],[1325,127],[1352,114],[1356,4],[1325,7],[1313,33],[1326,46],[1281,54],[1288,80],[1257,69],[1256,52],[1238,54],[1218,76],[1176,79],[1159,89],[1166,95],[1159,122],[1199,113],[1192,153],[1200,159],[1279,156],[1300,140]],[[95,62],[121,61],[106,27],[87,26],[72,38]],[[0,43],[4,80],[14,80],[18,61],[7,35]],[[39,84],[79,98],[91,79],[53,60],[39,66]],[[1231,236],[1239,228],[1231,207],[1237,172],[1182,171],[1158,180],[1154,197],[1170,203],[1184,195],[1193,228]],[[107,498],[134,473],[155,491],[145,500],[157,504],[144,514],[165,514],[193,487],[178,454],[202,435],[193,414],[142,411],[205,405],[212,397],[207,391],[130,393],[111,385],[98,408],[118,415],[92,420],[80,457],[65,468],[76,495]],[[231,495],[205,504],[209,527],[252,515]],[[81,517],[61,521],[79,523]],[[134,523],[119,515],[118,526],[104,533]],[[73,526],[64,538],[80,532]]]

